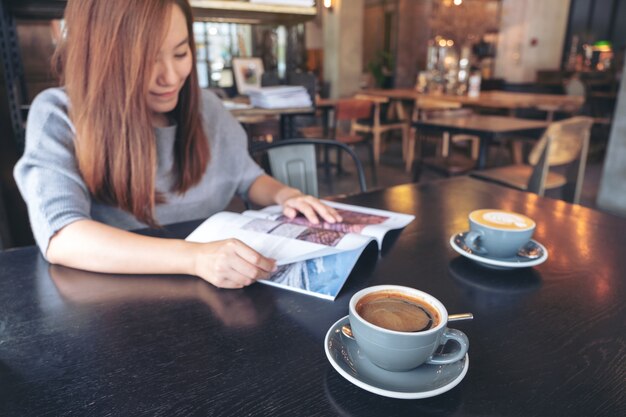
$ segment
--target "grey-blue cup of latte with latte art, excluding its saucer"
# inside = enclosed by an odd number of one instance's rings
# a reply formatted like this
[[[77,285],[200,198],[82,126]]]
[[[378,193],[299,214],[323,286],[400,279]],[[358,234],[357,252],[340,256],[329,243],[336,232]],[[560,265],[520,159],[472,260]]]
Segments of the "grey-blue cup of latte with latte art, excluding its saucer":
[[[497,209],[474,210],[469,214],[470,230],[465,244],[475,253],[493,258],[511,258],[533,236],[530,217]]]

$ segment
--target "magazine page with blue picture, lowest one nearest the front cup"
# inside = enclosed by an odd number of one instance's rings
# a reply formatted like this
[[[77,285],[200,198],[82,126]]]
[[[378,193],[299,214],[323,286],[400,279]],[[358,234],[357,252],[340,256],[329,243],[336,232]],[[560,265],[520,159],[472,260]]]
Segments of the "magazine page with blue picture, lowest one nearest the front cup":
[[[350,276],[363,249],[282,265],[270,278],[258,282],[334,300]]]

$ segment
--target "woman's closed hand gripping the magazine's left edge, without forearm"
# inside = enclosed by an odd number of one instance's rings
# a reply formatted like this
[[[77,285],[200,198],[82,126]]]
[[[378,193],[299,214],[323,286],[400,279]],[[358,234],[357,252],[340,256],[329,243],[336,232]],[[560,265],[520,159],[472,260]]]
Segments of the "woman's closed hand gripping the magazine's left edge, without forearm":
[[[195,245],[193,274],[219,288],[242,288],[276,269],[276,261],[237,239]]]

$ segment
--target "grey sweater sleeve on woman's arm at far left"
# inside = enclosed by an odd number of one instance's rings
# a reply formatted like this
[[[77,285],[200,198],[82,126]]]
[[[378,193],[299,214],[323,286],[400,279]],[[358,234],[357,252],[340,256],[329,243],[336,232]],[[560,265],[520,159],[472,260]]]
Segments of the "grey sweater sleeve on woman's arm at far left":
[[[13,175],[44,256],[55,233],[90,218],[91,198],[78,171],[74,135],[65,92],[56,88],[39,94],[31,105],[26,147]]]

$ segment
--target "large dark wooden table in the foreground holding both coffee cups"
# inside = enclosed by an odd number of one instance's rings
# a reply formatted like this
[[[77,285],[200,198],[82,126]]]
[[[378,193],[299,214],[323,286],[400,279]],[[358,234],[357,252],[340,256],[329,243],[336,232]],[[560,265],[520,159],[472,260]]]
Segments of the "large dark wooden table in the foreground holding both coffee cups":
[[[417,218],[380,256],[366,253],[334,302],[262,284],[87,273],[51,266],[34,247],[0,253],[0,415],[626,415],[626,220],[467,178],[348,201]],[[534,218],[547,262],[495,271],[454,252],[450,236],[485,207]],[[453,326],[470,339],[457,387],[390,399],[328,363],[327,329],[352,294],[382,283],[474,313]]]

